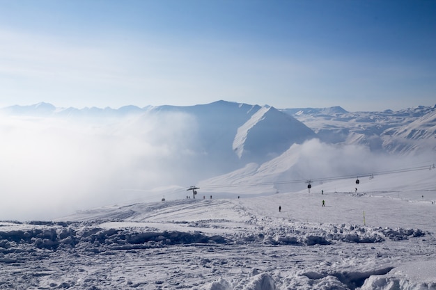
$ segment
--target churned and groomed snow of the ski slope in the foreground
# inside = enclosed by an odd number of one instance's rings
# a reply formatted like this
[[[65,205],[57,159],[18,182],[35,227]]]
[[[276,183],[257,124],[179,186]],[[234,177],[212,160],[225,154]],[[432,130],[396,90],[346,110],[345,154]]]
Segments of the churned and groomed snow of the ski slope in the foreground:
[[[435,174],[1,222],[0,289],[436,289]]]

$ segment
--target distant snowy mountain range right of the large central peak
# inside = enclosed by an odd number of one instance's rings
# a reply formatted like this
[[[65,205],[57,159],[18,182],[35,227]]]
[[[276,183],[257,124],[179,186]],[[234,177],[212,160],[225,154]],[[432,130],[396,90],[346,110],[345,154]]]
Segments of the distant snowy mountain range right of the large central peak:
[[[366,145],[372,151],[419,154],[436,150],[436,106],[400,111],[347,112],[341,107],[282,109],[333,144]]]

